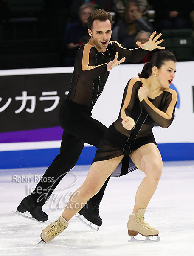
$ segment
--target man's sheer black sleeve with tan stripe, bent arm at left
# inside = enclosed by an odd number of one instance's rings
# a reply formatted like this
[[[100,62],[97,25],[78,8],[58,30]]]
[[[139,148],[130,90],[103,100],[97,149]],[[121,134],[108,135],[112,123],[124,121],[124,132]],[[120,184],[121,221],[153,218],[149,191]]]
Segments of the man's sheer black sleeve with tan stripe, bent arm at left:
[[[110,72],[107,71],[108,62],[96,66],[96,54],[94,47],[90,44],[85,44],[78,52],[77,57],[79,58],[78,62],[82,63],[82,65],[78,67],[79,77],[82,82],[93,80],[104,72]]]

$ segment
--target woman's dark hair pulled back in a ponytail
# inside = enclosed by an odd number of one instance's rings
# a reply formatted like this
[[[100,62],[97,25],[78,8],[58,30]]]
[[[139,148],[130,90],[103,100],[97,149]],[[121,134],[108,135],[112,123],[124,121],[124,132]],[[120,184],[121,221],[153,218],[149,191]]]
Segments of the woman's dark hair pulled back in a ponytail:
[[[143,66],[143,70],[141,73],[138,73],[139,77],[142,78],[148,78],[152,74],[152,67],[156,66],[158,69],[162,67],[165,61],[174,61],[176,62],[176,57],[172,52],[162,50],[159,52],[156,52],[153,56],[150,62],[147,62]]]

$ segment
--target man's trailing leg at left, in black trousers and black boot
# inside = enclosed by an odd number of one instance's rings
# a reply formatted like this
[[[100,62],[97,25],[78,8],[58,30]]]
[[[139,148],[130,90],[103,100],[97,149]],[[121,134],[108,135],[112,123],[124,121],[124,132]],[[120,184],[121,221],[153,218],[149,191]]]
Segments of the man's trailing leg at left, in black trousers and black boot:
[[[28,211],[35,219],[46,221],[48,215],[42,211],[42,206],[59,184],[62,177],[75,166],[83,146],[84,141],[64,131],[60,154],[55,157],[34,191],[22,200],[17,210],[19,212]]]

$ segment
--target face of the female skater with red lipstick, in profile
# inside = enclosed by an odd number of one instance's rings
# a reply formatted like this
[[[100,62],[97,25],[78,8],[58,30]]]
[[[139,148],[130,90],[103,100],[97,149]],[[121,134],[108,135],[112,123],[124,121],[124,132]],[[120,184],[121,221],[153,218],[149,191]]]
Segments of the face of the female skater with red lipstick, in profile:
[[[169,88],[175,77],[176,65],[174,61],[165,61],[162,67],[154,72],[162,88]]]

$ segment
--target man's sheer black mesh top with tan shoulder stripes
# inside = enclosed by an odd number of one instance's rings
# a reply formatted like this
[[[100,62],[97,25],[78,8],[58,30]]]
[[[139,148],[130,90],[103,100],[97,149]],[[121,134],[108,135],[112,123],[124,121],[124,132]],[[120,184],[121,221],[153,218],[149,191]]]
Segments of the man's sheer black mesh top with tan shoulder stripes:
[[[67,99],[93,108],[110,73],[107,63],[115,58],[116,52],[118,59],[126,57],[126,61],[135,63],[141,61],[148,51],[142,48],[125,49],[118,42],[110,41],[106,52],[100,52],[90,39],[77,52]]]

